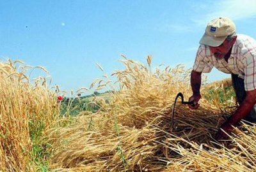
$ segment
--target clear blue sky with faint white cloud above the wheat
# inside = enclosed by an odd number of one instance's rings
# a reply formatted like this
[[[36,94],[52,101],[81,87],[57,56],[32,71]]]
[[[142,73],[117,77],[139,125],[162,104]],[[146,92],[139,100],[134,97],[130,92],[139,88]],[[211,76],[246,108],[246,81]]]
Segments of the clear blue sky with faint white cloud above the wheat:
[[[207,22],[230,17],[256,38],[256,1],[0,1],[0,57],[44,66],[61,90],[90,87],[118,59],[193,65]],[[104,73],[96,66],[102,65]],[[228,75],[212,70],[209,80]]]

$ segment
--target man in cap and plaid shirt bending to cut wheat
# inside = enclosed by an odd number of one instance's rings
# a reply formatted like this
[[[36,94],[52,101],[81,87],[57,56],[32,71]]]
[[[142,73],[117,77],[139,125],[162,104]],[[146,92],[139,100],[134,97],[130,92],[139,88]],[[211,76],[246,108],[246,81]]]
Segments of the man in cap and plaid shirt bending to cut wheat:
[[[213,66],[231,74],[239,103],[237,110],[221,125],[221,129],[229,134],[232,132],[232,125],[235,126],[242,119],[255,123],[256,41],[250,36],[236,34],[236,26],[229,18],[211,20],[200,39],[200,47],[191,71],[193,96],[189,97],[189,101],[194,101],[196,105],[189,105],[189,108],[198,108],[198,101],[201,98],[201,75],[209,73]],[[216,134],[216,140],[228,138],[221,129]]]

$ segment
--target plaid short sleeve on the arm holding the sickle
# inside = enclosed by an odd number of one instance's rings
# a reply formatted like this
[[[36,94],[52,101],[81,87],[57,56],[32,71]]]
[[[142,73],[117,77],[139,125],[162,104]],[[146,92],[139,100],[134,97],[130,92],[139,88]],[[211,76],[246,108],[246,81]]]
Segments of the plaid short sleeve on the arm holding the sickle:
[[[211,61],[207,61],[206,47],[200,45],[196,53],[195,63],[193,65],[193,70],[197,72],[209,73],[213,68]]]

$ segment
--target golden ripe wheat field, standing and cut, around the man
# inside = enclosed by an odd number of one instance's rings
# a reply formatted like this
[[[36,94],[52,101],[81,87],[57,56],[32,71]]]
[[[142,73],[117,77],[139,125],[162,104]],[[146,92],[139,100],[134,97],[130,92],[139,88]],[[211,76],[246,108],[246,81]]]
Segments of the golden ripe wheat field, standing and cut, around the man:
[[[61,90],[45,77],[29,78],[34,68],[0,62],[0,170],[255,171],[255,125],[241,122],[230,140],[214,140],[237,108],[233,90],[226,89],[230,80],[208,84],[205,78],[200,108],[177,103],[171,130],[175,96],[191,96],[191,69],[153,68],[151,61],[151,56],[145,64],[123,57],[124,69],[90,87],[111,90],[108,101],[95,96],[90,103],[99,110],[76,116],[60,114]]]

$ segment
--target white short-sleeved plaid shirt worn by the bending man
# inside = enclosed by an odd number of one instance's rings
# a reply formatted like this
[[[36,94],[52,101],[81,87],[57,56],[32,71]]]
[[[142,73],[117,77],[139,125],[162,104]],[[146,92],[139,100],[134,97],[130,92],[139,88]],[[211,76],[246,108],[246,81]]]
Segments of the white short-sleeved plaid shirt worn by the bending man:
[[[216,59],[211,54],[209,47],[200,45],[198,48],[193,70],[209,73],[215,66],[224,73],[233,73],[244,79],[244,89],[256,89],[256,41],[250,36],[237,34],[232,52],[228,59]]]

